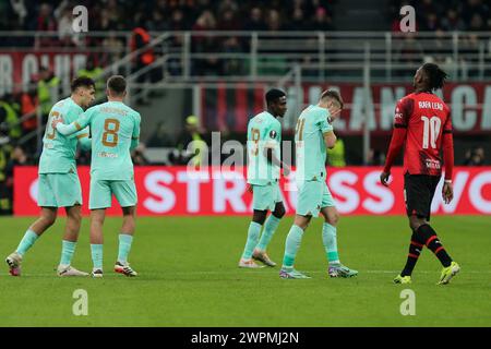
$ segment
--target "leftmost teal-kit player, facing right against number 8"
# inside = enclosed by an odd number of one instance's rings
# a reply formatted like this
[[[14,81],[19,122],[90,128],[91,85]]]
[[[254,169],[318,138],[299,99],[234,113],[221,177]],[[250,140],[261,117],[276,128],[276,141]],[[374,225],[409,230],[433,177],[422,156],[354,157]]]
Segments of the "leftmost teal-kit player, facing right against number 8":
[[[67,226],[58,275],[88,275],[75,269],[70,264],[82,220],[82,190],[75,161],[76,144],[80,142],[83,148],[89,149],[89,132],[88,129],[81,129],[74,135],[63,136],[55,132],[51,128],[51,121],[64,120],[64,122],[70,123],[76,120],[83,113],[83,108],[87,108],[94,101],[95,84],[92,79],[80,76],[72,82],[71,89],[71,96],[58,101],[49,113],[43,137],[43,153],[38,169],[37,204],[41,207],[40,217],[27,229],[17,249],[5,260],[12,276],[21,275],[21,263],[24,254],[55,224],[59,207],[64,207],[67,212]]]

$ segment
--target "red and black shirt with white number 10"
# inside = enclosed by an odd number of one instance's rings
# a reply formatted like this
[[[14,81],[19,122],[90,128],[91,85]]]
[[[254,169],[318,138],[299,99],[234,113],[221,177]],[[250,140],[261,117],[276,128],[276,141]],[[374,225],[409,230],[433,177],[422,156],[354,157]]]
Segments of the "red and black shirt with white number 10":
[[[397,105],[395,127],[407,128],[404,172],[440,176],[443,133],[452,132],[450,109],[431,93],[412,93]]]

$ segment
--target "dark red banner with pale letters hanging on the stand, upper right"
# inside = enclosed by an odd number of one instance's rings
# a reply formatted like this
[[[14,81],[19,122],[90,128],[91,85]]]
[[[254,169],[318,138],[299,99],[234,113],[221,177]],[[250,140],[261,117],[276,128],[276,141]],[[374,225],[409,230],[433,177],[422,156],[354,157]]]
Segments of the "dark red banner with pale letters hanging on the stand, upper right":
[[[316,104],[322,92],[333,88],[339,91],[345,108],[342,118],[336,121],[336,131],[344,134],[362,134],[363,118],[368,115],[369,128],[373,134],[387,134],[392,131],[394,109],[398,99],[412,92],[410,84],[371,85],[369,103],[364,103],[362,84],[313,84],[303,83],[300,100],[303,106]],[[201,110],[202,120],[207,130],[233,130],[246,132],[250,117],[264,108],[264,84],[236,84],[230,87],[225,84],[216,88],[202,87]],[[297,91],[287,86],[288,105],[295,104]],[[491,134],[491,84],[448,83],[436,94],[443,98],[452,110],[452,121],[455,134]],[[366,110],[367,109],[367,110]],[[292,110],[292,109],[291,109]],[[298,116],[287,116],[286,119],[297,120]],[[285,122],[284,122],[285,123]],[[285,129],[295,128],[295,122],[285,124]]]

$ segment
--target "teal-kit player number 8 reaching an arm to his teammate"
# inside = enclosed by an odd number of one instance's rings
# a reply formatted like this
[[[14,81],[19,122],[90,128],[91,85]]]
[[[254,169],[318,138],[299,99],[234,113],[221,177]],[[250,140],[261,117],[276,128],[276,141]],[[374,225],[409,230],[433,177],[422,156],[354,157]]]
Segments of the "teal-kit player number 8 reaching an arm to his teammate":
[[[107,81],[108,101],[89,108],[71,124],[53,122],[61,134],[71,134],[89,125],[92,130],[91,163],[91,251],[93,277],[103,276],[103,225],[106,208],[111,206],[112,194],[123,212],[123,224],[119,234],[119,253],[115,272],[136,276],[130,267],[128,255],[134,233],[136,188],[130,152],[140,137],[140,113],[123,104],[127,82],[115,75]]]

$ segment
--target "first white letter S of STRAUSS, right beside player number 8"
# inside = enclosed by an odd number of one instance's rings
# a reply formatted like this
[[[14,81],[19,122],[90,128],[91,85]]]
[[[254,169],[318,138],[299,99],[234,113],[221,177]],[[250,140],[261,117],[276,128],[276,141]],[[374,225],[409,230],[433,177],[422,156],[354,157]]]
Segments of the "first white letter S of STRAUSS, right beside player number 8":
[[[160,182],[171,184],[173,182],[173,176],[171,173],[163,170],[152,171],[145,176],[143,182],[148,193],[159,197],[159,200],[152,196],[145,198],[143,202],[143,206],[145,206],[145,208],[152,213],[163,214],[175,207],[176,194],[169,188],[160,184]]]

